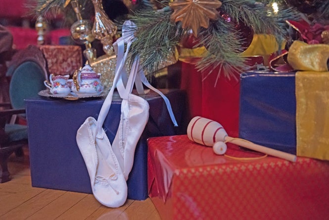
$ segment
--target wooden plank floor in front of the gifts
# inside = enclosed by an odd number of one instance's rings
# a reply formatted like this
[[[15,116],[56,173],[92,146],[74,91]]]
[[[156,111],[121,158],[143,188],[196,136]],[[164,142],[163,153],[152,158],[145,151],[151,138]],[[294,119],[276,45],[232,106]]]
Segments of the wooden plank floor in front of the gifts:
[[[92,194],[31,186],[29,152],[10,158],[12,179],[0,183],[1,220],[160,220],[151,200],[127,200],[116,209],[98,203]]]

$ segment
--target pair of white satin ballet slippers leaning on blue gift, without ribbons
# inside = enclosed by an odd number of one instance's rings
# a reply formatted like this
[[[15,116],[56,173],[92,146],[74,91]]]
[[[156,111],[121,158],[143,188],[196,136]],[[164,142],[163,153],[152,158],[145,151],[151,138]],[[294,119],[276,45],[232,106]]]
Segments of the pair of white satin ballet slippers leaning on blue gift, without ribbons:
[[[104,130],[96,135],[97,121],[88,117],[77,132],[77,144],[90,176],[97,201],[107,207],[122,206],[127,199],[128,175],[141,132],[148,120],[148,103],[130,94],[121,104],[121,118],[112,143]]]

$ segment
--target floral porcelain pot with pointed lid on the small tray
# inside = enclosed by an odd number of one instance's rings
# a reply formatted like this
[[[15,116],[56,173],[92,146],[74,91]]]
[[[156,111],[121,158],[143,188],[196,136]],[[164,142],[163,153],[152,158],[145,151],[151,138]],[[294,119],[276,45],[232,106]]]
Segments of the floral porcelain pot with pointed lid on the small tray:
[[[88,61],[81,70],[73,74],[72,92],[77,96],[94,96],[103,92],[103,85],[100,82],[100,73],[95,73]]]

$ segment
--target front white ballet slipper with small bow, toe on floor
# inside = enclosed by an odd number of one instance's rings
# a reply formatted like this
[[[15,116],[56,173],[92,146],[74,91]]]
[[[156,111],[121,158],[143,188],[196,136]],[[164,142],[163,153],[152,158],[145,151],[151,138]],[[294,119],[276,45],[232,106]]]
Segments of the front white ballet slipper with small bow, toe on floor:
[[[127,183],[106,135],[95,138],[96,120],[88,117],[77,132],[77,144],[87,166],[94,197],[117,208],[127,199]],[[104,132],[104,130],[102,130]]]

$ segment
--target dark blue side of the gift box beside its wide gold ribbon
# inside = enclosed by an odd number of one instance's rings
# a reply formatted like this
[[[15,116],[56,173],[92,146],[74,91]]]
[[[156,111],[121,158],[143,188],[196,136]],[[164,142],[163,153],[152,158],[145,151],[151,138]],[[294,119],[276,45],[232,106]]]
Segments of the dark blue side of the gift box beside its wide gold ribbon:
[[[296,154],[295,72],[240,76],[239,137]]]

